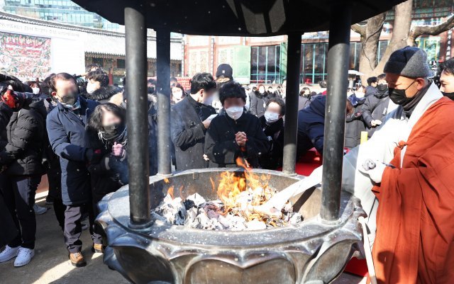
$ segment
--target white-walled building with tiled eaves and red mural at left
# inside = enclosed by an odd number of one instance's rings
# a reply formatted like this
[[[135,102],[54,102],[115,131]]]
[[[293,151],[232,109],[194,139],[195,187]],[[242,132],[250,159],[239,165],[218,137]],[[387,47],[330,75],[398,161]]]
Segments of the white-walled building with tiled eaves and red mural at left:
[[[182,70],[182,36],[171,37],[171,74]],[[0,12],[0,72],[23,80],[43,79],[50,73],[83,74],[97,63],[121,84],[125,70],[125,34],[43,21]],[[156,76],[156,36],[148,30],[148,76]]]

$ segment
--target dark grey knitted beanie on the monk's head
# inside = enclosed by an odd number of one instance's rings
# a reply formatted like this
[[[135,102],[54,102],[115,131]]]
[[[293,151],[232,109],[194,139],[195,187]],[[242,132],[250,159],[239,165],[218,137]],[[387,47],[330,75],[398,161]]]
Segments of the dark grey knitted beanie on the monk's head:
[[[407,46],[392,52],[384,64],[384,73],[393,73],[409,78],[426,78],[432,76],[428,67],[427,55],[418,47]]]

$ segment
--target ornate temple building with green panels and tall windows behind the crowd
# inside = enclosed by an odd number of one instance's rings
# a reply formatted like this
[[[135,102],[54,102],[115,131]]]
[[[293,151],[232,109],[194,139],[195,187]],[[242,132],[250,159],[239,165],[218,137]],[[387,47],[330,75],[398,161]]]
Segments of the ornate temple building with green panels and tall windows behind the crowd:
[[[452,0],[414,0],[412,25],[437,25],[454,11]],[[304,11],[301,11],[304,17]],[[387,13],[377,59],[380,60],[392,36],[394,11]],[[436,36],[422,36],[419,47],[426,50],[430,62],[441,62],[452,56],[451,31]],[[358,70],[360,36],[350,35],[350,69]],[[328,32],[305,33],[301,36],[301,83],[315,84],[326,79]],[[221,63],[231,64],[233,77],[242,84],[281,83],[286,77],[287,36],[270,38],[184,36],[184,74],[216,72]]]

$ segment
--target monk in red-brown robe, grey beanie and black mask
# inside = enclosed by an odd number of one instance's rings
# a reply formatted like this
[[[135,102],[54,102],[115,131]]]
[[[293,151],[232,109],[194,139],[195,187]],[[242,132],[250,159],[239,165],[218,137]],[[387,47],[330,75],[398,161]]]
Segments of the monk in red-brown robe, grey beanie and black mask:
[[[423,64],[408,68],[412,59]],[[389,96],[399,105],[389,119],[410,127],[396,143],[394,167],[378,161],[362,170],[375,181],[379,202],[372,250],[377,282],[454,283],[454,102],[425,73],[419,76],[426,68],[421,50],[397,50],[389,62]]]

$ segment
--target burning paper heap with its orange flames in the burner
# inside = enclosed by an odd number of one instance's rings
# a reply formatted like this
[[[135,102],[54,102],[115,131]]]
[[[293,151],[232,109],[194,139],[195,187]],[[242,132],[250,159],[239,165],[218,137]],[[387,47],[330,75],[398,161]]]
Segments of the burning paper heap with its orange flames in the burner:
[[[255,212],[255,206],[266,203],[276,193],[268,185],[268,178],[251,171],[223,172],[217,188],[211,180],[219,200],[209,201],[198,193],[184,201],[179,197],[173,198],[173,187],[170,187],[167,196],[152,214],[156,219],[172,225],[232,231],[283,227],[301,222],[302,216],[293,212],[289,203],[279,217]]]

